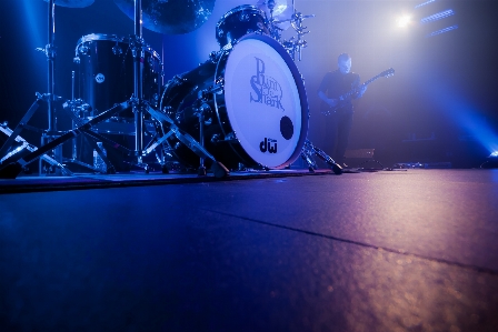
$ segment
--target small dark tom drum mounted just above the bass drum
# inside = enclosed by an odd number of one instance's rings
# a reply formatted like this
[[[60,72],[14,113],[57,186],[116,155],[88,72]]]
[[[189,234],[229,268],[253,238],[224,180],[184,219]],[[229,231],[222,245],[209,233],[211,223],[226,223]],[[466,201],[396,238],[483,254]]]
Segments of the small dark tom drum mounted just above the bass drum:
[[[216,24],[216,40],[220,48],[251,32],[269,34],[265,12],[251,4],[233,8]]]

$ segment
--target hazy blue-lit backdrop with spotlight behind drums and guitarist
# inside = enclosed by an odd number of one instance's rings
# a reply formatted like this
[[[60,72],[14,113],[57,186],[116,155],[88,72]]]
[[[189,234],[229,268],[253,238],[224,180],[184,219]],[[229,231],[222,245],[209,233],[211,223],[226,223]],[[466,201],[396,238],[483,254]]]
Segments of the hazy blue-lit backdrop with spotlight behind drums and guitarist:
[[[187,34],[162,36],[143,30],[145,40],[165,62],[165,82],[190,71],[219,49],[215,27],[228,10],[250,1],[218,0],[209,20]],[[256,2],[256,1],[252,1]],[[250,2],[250,3],[252,3]],[[311,31],[298,67],[305,78],[310,104],[309,139],[323,142],[327,119],[319,113],[317,88],[325,72],[336,68],[337,56],[348,52],[352,70],[365,81],[394,68],[396,74],[369,85],[356,102],[350,149],[376,149],[376,159],[394,162],[451,162],[457,168],[479,167],[498,150],[498,72],[496,1],[332,1],[296,0]],[[420,19],[441,10],[455,14],[421,24]],[[47,92],[47,59],[36,48],[47,44],[48,6],[42,0],[0,1],[0,121],[14,127],[34,92]],[[397,27],[408,13],[414,23]],[[427,38],[431,31],[458,26]],[[82,36],[106,33],[127,37],[133,22],[111,0],[96,0],[83,9],[56,8],[56,94],[71,98],[74,48]],[[283,34],[295,36],[291,29]],[[78,95],[77,95],[78,97]],[[47,128],[47,110],[40,108],[30,124]],[[63,114],[58,129],[69,129]],[[38,144],[39,134],[22,135]]]

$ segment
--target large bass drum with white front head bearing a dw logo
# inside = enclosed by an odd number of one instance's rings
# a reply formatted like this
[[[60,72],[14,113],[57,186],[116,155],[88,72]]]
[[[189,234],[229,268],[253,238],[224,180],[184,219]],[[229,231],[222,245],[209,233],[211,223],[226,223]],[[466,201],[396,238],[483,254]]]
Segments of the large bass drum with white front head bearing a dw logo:
[[[301,76],[283,47],[250,33],[166,84],[160,109],[229,169],[282,169],[300,154],[308,133]],[[188,168],[199,157],[170,135],[166,144]],[[207,167],[209,167],[207,161]]]

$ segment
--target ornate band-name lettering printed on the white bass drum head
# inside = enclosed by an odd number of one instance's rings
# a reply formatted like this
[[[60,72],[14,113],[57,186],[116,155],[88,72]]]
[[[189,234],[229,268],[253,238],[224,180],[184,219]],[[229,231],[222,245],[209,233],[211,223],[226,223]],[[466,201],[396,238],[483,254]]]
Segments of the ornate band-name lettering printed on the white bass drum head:
[[[269,107],[285,111],[282,100],[282,88],[273,78],[265,76],[265,62],[256,58],[256,74],[251,77],[251,87],[255,94],[250,92],[250,101],[265,103]]]

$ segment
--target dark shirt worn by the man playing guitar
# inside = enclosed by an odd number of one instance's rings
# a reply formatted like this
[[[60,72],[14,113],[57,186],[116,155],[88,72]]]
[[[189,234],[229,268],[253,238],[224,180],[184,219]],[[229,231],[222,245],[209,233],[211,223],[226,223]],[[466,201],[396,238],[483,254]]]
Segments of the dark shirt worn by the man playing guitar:
[[[321,80],[318,91],[323,92],[328,98],[338,99],[342,94],[351,91],[353,88],[360,84],[360,76],[353,72],[341,73],[338,69],[329,71]],[[352,113],[352,102],[357,95],[352,95],[348,100],[341,103],[341,108],[338,110],[340,113]]]

